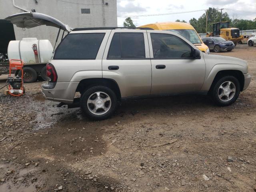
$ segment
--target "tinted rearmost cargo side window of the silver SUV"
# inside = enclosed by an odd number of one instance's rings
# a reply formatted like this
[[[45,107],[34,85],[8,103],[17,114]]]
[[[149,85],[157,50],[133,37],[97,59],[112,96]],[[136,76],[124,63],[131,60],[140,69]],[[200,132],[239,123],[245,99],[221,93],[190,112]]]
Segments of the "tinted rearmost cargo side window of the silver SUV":
[[[69,34],[60,43],[54,59],[95,60],[105,33]]]

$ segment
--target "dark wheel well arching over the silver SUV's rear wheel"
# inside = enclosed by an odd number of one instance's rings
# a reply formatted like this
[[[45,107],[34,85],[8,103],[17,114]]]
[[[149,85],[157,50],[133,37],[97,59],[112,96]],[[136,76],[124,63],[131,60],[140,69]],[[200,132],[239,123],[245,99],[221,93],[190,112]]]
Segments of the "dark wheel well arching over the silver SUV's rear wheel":
[[[106,86],[110,89],[112,89],[116,93],[116,97],[118,100],[121,100],[121,92],[119,89],[118,84],[116,81],[112,79],[107,79],[107,78],[90,78],[90,79],[83,79],[80,81],[76,88],[76,92],[80,92],[81,94],[84,93],[86,90],[93,86]]]

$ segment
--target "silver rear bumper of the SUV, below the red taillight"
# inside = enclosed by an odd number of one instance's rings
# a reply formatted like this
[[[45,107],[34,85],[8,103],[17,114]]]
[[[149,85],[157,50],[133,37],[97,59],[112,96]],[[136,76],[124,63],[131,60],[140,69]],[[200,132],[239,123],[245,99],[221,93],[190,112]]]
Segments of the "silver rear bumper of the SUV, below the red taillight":
[[[59,82],[51,88],[49,83],[45,83],[41,86],[42,94],[48,100],[71,104],[74,101],[78,84],[79,82]]]

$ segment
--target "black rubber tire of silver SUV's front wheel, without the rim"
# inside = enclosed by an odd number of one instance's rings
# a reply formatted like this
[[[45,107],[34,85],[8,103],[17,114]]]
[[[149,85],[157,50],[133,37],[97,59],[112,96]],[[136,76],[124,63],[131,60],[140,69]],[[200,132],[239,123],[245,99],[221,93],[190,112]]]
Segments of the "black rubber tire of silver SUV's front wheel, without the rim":
[[[235,91],[234,96],[231,100],[222,101],[218,96],[219,88],[226,81],[233,82],[234,85],[236,86],[236,91]],[[210,91],[210,96],[212,97],[212,100],[214,101],[214,103],[216,105],[218,105],[218,106],[229,106],[237,100],[237,98],[240,94],[240,90],[241,90],[240,83],[237,80],[237,78],[235,78],[234,76],[225,76],[225,77],[222,77],[222,78],[216,80],[216,82],[214,82],[214,84],[212,85],[212,89]]]

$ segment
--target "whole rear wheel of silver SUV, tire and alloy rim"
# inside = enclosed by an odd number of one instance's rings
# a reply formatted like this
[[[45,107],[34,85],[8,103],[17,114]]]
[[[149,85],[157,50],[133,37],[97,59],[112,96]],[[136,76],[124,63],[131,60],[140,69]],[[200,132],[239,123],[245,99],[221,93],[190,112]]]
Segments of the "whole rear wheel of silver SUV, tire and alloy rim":
[[[80,107],[91,119],[103,120],[116,110],[116,94],[108,87],[94,86],[86,90],[80,100]]]

